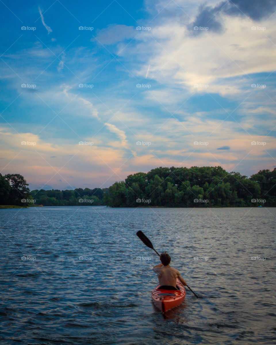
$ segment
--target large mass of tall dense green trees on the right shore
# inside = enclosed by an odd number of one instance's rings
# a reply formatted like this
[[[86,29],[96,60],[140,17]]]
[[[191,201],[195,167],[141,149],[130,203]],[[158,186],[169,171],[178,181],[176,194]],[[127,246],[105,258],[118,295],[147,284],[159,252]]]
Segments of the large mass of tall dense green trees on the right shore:
[[[276,206],[275,184],[276,168],[248,178],[220,166],[159,167],[116,182],[104,200],[113,207]]]

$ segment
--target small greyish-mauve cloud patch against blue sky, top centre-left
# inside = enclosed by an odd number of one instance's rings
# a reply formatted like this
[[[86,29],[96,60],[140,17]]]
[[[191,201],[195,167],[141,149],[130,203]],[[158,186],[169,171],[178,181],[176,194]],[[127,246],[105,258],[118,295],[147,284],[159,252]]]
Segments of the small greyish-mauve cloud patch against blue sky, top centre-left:
[[[125,39],[134,38],[137,34],[136,30],[132,26],[126,25],[109,25],[106,29],[102,29],[97,33],[97,39],[103,45],[110,45]],[[91,39],[91,41],[94,38]]]

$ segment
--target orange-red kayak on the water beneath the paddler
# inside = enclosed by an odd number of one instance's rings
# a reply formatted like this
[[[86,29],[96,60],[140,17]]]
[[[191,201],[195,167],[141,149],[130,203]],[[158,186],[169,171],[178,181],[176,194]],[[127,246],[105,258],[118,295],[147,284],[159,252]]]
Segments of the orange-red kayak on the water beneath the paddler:
[[[152,301],[161,312],[165,313],[167,310],[183,303],[186,296],[186,290],[178,278],[176,279],[176,286],[178,286],[180,290],[163,290],[159,289],[160,285],[157,285],[152,291]]]

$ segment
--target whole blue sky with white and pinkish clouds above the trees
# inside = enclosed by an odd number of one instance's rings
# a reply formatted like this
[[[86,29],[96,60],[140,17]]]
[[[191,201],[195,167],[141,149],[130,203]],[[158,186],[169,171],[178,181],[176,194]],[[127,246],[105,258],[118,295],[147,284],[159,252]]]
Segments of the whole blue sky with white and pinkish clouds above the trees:
[[[0,0],[0,172],[105,188],[276,167],[276,0]]]

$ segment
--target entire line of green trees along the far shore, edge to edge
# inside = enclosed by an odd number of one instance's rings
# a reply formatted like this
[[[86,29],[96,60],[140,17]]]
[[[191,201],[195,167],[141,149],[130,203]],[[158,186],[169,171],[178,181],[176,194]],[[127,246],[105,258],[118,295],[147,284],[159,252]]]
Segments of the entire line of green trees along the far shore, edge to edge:
[[[109,188],[30,191],[19,174],[0,174],[0,204],[18,206],[244,207],[276,206],[276,168],[250,178],[217,167],[159,167]]]

